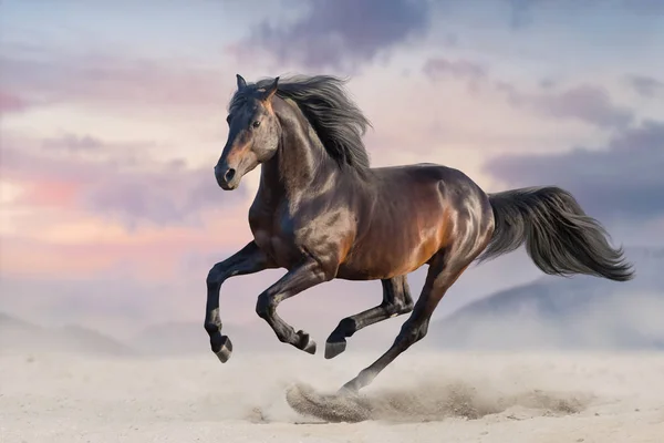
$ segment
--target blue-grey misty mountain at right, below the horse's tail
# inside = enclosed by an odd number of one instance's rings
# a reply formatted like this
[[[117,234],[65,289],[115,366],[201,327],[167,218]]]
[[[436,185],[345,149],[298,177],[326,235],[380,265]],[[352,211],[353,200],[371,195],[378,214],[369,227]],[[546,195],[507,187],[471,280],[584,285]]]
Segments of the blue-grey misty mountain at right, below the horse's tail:
[[[664,249],[630,248],[636,277],[544,276],[432,322],[442,348],[662,349]]]

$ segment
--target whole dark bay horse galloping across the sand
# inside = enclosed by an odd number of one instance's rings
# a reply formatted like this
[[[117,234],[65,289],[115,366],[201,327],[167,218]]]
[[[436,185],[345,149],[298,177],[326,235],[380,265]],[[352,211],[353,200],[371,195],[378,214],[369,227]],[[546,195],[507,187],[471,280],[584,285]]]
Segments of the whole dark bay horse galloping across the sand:
[[[287,270],[258,296],[256,312],[279,341],[311,354],[315,342],[279,317],[279,303],[332,279],[381,280],[381,305],[342,319],[325,358],[343,352],[362,328],[409,317],[390,349],[340,389],[347,393],[426,336],[440,299],[474,261],[525,245],[548,275],[633,278],[622,247],[612,247],[605,228],[558,186],[489,194],[444,165],[372,167],[362,140],[371,123],[349,97],[346,79],[236,80],[215,178],[222,189],[237,189],[260,165],[260,184],[248,217],[253,239],[214,265],[206,280],[204,326],[222,363],[232,344],[221,334],[219,291],[234,276]],[[424,265],[426,280],[413,302],[406,276]]]

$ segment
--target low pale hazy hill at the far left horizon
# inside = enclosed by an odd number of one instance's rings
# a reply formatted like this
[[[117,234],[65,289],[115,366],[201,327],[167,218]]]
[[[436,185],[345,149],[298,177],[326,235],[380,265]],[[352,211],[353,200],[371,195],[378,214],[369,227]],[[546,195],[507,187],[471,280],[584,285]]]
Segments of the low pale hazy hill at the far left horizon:
[[[0,352],[39,351],[135,354],[131,347],[87,328],[79,326],[40,327],[0,312]]]

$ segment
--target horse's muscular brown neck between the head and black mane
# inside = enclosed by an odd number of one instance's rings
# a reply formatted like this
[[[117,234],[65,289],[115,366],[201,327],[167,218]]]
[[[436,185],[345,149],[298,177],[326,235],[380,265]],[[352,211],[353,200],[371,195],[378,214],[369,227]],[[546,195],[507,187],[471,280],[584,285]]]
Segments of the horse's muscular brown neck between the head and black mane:
[[[262,165],[259,192],[270,199],[292,198],[338,175],[336,163],[299,110],[282,102],[274,111],[281,122],[281,141],[274,156]]]

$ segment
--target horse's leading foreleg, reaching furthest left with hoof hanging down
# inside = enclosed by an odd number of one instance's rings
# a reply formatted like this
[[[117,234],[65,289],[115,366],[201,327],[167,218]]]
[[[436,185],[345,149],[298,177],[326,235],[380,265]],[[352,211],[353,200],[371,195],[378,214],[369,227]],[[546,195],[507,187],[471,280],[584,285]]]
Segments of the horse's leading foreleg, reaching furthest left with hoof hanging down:
[[[219,317],[219,290],[221,284],[232,276],[255,274],[272,268],[271,260],[251,241],[238,253],[224,261],[219,261],[207,276],[207,302],[205,308],[205,330],[210,336],[210,347],[222,363],[226,363],[232,352],[232,344],[227,336],[221,334]]]

